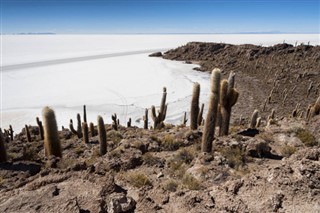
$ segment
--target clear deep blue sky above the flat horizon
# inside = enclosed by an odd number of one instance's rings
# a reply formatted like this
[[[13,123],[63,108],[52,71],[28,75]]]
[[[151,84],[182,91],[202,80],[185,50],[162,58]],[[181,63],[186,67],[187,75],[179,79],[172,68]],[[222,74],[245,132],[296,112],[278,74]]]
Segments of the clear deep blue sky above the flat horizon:
[[[320,0],[1,0],[2,33],[320,33]]]

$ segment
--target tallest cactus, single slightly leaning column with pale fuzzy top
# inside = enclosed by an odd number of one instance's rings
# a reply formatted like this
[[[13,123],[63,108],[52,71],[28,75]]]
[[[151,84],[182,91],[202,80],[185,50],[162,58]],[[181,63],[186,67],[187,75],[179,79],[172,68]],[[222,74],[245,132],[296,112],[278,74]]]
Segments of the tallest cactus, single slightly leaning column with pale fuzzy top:
[[[215,123],[217,118],[219,93],[220,93],[220,69],[214,69],[211,73],[211,91],[209,97],[209,109],[204,124],[204,131],[202,136],[201,151],[211,152],[212,142],[214,139]]]

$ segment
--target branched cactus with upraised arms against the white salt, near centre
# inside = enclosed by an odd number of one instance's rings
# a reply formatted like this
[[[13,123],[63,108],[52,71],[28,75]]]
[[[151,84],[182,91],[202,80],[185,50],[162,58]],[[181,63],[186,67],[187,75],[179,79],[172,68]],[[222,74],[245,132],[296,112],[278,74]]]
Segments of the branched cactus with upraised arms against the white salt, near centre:
[[[151,106],[151,118],[153,120],[153,129],[161,129],[164,126],[163,121],[166,118],[168,105],[166,104],[167,89],[163,87],[162,99],[158,115],[155,106]]]

